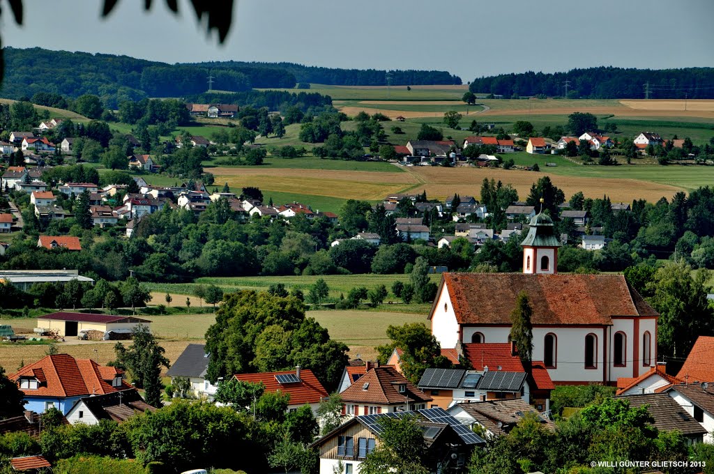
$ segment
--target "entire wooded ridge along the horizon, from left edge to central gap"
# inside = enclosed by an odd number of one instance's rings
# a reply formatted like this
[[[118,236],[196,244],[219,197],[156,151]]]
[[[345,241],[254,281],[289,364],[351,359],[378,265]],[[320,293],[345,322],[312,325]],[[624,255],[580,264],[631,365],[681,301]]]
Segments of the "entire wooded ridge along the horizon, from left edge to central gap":
[[[94,94],[108,107],[148,97],[186,97],[212,89],[245,92],[253,88],[293,88],[298,82],[380,86],[386,71],[328,69],[291,63],[236,61],[166,64],[113,54],[48,49],[5,48],[5,77],[0,95],[9,99],[37,93],[76,98]],[[77,71],[81,71],[78,74]],[[392,71],[391,84],[461,84],[446,71]]]

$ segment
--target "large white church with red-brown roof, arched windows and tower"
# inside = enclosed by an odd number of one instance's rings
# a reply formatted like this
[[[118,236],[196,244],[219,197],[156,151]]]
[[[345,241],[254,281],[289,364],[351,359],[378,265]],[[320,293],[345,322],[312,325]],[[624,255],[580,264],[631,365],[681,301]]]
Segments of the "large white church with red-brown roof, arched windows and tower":
[[[539,213],[529,226],[523,273],[443,274],[428,316],[441,348],[509,343],[511,311],[526,291],[533,360],[556,385],[615,385],[654,367],[658,313],[622,275],[558,275],[553,221]]]

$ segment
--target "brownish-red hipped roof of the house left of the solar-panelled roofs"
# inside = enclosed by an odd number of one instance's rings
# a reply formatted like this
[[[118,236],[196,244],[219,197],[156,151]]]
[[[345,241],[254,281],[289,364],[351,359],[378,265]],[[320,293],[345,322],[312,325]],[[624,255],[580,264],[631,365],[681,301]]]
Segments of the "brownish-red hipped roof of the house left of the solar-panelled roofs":
[[[365,384],[368,384],[366,389],[363,388]],[[401,384],[406,385],[406,393],[399,393],[398,385]],[[391,365],[382,365],[369,370],[361,376],[358,383],[353,383],[340,395],[343,401],[381,405],[403,405],[405,398],[417,402],[432,400]]]

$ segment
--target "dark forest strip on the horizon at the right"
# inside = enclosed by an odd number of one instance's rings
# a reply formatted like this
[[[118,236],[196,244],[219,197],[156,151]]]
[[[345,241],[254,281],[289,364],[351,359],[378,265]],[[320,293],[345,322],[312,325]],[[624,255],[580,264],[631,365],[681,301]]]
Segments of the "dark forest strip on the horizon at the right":
[[[712,99],[714,68],[623,69],[597,67],[554,74],[528,71],[522,74],[474,79],[474,94],[511,96],[563,96],[565,81],[573,99]],[[648,85],[649,84],[649,85]]]

